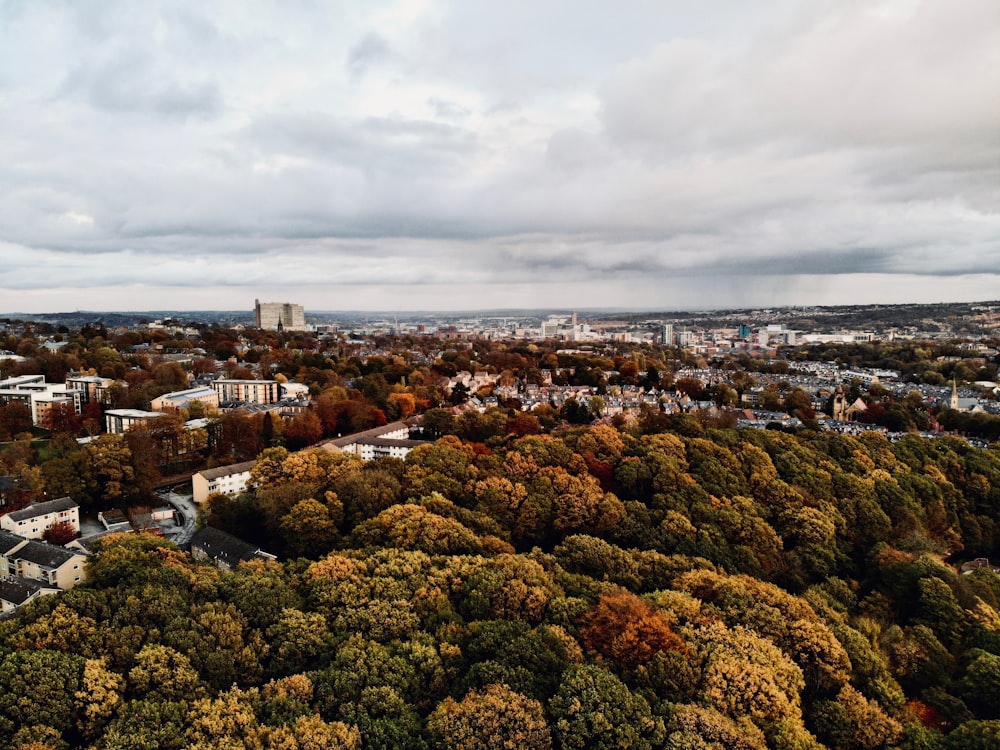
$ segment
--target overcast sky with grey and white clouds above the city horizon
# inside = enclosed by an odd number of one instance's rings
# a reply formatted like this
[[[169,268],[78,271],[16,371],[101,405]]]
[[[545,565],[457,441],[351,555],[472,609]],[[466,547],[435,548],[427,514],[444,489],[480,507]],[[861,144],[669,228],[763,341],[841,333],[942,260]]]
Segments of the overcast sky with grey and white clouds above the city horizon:
[[[0,0],[0,313],[998,298],[997,0]]]

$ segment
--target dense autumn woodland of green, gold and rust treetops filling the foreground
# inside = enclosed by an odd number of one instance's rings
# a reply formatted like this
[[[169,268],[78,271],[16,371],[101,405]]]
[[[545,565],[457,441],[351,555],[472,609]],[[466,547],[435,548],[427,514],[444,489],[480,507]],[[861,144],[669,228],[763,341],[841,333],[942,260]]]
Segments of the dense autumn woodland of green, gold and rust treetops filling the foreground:
[[[610,426],[265,451],[0,623],[0,747],[1000,746],[1000,451]]]

